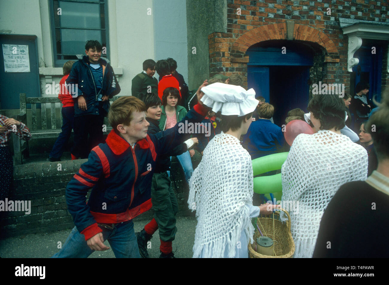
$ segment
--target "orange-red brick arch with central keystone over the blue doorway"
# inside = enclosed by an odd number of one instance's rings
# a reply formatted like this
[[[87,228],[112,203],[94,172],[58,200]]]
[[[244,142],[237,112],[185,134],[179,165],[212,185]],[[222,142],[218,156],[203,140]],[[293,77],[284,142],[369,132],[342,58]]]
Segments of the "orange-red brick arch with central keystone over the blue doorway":
[[[292,40],[291,33],[288,36],[287,32],[289,31],[287,31],[286,22],[259,26],[248,31],[233,42],[231,46],[231,60],[234,61],[233,58],[243,58],[247,49],[258,42],[265,40]],[[315,42],[322,46],[328,54],[338,54],[338,49],[334,42],[325,33],[311,26],[294,24],[293,40]],[[241,60],[237,61],[241,62]]]

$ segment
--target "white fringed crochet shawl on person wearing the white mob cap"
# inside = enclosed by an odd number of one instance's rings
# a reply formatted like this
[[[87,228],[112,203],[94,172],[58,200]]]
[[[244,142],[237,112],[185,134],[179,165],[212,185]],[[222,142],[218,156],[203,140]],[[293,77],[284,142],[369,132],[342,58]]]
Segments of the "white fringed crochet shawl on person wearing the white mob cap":
[[[251,238],[254,227],[245,204],[252,205],[251,157],[233,135],[221,134],[208,143],[189,180],[189,209],[198,220],[193,257],[235,256],[242,230]],[[202,252],[203,251],[203,252]]]

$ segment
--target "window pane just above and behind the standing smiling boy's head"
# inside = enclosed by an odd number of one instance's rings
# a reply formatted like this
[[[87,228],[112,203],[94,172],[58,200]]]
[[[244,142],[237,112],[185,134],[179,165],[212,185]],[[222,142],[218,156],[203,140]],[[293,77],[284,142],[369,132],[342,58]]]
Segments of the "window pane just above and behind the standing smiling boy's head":
[[[98,40],[101,43],[100,30],[61,29],[61,33],[63,55],[84,55],[87,40]]]

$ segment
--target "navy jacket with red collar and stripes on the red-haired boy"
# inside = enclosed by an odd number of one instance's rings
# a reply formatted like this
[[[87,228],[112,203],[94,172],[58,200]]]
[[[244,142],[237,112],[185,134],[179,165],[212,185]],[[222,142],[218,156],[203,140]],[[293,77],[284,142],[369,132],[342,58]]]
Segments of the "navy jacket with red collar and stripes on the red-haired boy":
[[[207,111],[197,104],[182,121],[198,123]],[[176,124],[166,131],[147,134],[132,148],[112,130],[104,144],[93,148],[66,188],[69,213],[85,240],[102,232],[97,223],[125,222],[148,211],[152,206],[151,181],[157,155],[170,153],[189,137],[190,134],[180,134]]]

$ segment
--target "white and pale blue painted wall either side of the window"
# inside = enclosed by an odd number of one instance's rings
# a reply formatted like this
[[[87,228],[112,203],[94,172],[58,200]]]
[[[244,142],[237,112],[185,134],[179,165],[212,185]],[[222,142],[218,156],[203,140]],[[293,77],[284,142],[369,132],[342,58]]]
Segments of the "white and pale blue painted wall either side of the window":
[[[53,97],[46,84],[62,77],[62,68],[53,67],[50,12],[48,0],[0,0],[0,33],[37,35],[42,97]],[[110,64],[119,95],[131,95],[131,80],[149,58],[174,58],[187,81],[185,0],[109,0],[108,13]]]

